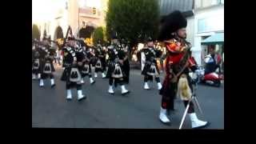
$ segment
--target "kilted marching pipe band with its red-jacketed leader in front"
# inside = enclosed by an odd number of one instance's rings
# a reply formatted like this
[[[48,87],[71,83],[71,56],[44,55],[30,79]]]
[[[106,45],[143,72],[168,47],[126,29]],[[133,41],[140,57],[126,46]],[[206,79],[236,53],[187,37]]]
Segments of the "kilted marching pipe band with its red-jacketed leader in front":
[[[179,11],[174,11],[163,21],[158,40],[164,42],[166,46],[166,76],[160,82],[160,72],[156,58],[160,58],[162,52],[154,48],[154,40],[147,39],[147,45],[142,52],[142,75],[144,76],[143,89],[149,90],[149,81],[157,83],[159,94],[162,95],[159,119],[164,124],[170,124],[170,110],[174,110],[174,98],[179,95],[185,106],[190,105],[188,114],[190,115],[192,128],[207,126],[209,122],[204,122],[197,118],[194,112],[194,104],[190,102],[192,98],[192,80],[188,74],[194,70],[193,58],[190,54],[190,42],[186,42],[186,18],[182,17]],[[66,38],[62,46],[62,82],[66,82],[66,99],[72,99],[72,88],[77,89],[78,101],[86,99],[90,92],[82,91],[84,78],[90,78],[90,84],[94,84],[94,78],[98,77],[98,72],[102,73],[102,78],[108,78],[109,94],[115,94],[114,87],[121,87],[121,94],[126,95],[130,90],[126,89],[129,83],[130,64],[129,46],[125,40],[118,39],[118,33],[111,34],[110,46],[102,46],[98,41],[96,46],[86,43],[83,39],[74,38],[70,35]],[[44,82],[50,78],[50,86],[54,88],[54,54],[56,49],[50,45],[50,37],[46,35],[42,41],[32,41],[32,79],[39,81],[39,86],[44,87]],[[104,47],[104,48],[103,48]],[[94,78],[92,77],[94,71]],[[107,82],[106,82],[107,83]]]

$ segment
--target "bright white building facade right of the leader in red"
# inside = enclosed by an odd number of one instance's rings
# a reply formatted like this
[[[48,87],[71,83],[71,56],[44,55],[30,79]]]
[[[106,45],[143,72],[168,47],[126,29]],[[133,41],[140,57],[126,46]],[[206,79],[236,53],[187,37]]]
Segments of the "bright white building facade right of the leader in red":
[[[198,65],[201,66],[204,64],[202,59],[208,53],[208,46],[202,45],[201,42],[214,34],[224,33],[224,1],[196,0],[193,31],[194,47],[192,54]],[[219,54],[223,55],[223,46],[216,45],[214,47]]]

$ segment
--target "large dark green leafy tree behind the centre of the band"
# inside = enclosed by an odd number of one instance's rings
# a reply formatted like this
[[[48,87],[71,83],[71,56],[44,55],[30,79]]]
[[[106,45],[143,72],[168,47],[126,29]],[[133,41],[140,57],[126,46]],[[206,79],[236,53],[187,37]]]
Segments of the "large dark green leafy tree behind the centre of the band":
[[[106,36],[111,30],[126,38],[131,47],[146,37],[157,38],[159,23],[157,0],[109,0],[106,13]]]

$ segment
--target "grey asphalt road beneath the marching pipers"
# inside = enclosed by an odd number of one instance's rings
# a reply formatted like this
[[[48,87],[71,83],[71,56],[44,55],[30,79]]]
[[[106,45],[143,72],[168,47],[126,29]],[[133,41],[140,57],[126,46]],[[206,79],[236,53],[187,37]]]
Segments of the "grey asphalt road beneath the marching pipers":
[[[157,84],[150,83],[151,90],[143,90],[140,73],[130,70],[130,84],[126,86],[130,94],[125,96],[119,86],[114,95],[108,94],[108,79],[102,79],[100,73],[94,85],[86,77],[82,90],[87,98],[78,102],[76,90],[72,90],[73,99],[66,100],[65,82],[60,81],[62,69],[56,67],[54,88],[50,88],[50,80],[44,88],[32,81],[32,127],[178,129],[185,110],[182,101],[176,99],[171,125],[162,124],[158,119],[161,95]],[[219,88],[199,85],[197,94],[203,111],[200,114],[196,109],[198,118],[211,123],[205,129],[224,129],[223,84]],[[183,128],[191,128],[189,116]]]

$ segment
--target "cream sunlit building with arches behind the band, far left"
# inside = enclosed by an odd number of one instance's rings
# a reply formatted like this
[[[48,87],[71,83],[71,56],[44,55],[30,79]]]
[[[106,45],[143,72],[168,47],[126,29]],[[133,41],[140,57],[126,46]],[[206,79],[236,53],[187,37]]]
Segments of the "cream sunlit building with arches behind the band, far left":
[[[106,6],[108,0],[33,0],[32,25],[36,24],[40,30],[41,38],[46,30],[54,40],[55,30],[62,28],[65,37],[68,26],[74,35],[86,26],[105,26]]]

